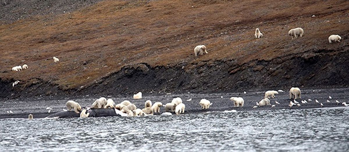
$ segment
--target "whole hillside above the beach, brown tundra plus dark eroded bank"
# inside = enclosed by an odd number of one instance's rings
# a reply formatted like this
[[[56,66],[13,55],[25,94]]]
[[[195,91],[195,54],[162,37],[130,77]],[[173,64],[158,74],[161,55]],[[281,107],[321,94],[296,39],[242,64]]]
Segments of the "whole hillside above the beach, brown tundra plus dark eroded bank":
[[[0,6],[1,97],[349,84],[346,0],[29,2]],[[304,36],[291,40],[296,27]],[[343,40],[329,44],[332,34]]]

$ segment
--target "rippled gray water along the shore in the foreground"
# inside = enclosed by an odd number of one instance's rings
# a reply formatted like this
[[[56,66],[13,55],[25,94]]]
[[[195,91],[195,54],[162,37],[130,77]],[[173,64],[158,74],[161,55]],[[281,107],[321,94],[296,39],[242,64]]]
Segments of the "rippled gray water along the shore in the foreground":
[[[349,108],[2,119],[1,151],[349,151]]]

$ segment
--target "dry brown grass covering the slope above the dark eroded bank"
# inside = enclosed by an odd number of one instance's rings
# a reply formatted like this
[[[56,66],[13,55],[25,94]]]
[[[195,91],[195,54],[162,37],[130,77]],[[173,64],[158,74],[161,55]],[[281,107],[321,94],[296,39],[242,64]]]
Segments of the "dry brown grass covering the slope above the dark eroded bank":
[[[63,89],[94,83],[136,63],[185,68],[201,61],[273,60],[335,49],[331,34],[348,45],[345,0],[105,0],[70,14],[20,20],[0,26],[0,77],[38,78]],[[311,17],[316,15],[316,17]],[[291,40],[288,30],[302,27],[304,37]],[[264,37],[254,39],[254,29]],[[205,44],[209,54],[195,58],[193,48]],[[52,57],[60,59],[53,63]],[[28,64],[29,69],[10,71]]]

